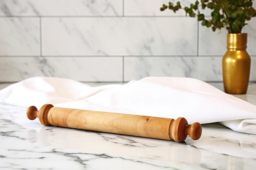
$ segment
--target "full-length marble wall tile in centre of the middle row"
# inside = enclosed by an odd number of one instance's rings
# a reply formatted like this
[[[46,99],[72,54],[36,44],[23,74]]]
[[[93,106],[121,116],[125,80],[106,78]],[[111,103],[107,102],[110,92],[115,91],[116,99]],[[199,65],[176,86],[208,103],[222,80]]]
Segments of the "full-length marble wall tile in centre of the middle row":
[[[42,51],[43,55],[196,55],[197,21],[42,18]]]

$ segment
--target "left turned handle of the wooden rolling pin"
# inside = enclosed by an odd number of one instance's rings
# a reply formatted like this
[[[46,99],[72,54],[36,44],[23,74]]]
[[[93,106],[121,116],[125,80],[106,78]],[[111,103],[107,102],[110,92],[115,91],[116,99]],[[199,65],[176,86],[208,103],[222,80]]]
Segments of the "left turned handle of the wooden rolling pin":
[[[35,106],[30,106],[27,109],[27,117],[30,120],[34,120],[34,119],[36,119],[36,117],[38,117],[41,124],[43,124],[45,126],[49,126],[51,124],[49,124],[49,121],[48,121],[48,112],[52,107],[53,107],[52,104],[45,104],[38,111]]]

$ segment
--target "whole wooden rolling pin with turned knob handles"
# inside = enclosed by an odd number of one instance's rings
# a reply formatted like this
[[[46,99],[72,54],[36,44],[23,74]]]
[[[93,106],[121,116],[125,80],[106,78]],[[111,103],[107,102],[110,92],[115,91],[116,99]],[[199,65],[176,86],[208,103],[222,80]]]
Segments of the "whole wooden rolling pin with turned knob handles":
[[[45,104],[39,111],[35,106],[30,106],[27,109],[27,117],[30,120],[38,117],[41,124],[45,126],[61,126],[122,135],[175,140],[177,142],[184,141],[187,135],[191,139],[197,140],[202,133],[202,127],[198,122],[190,126],[186,119],[182,117],[174,120],[161,117],[58,108],[51,104]]]

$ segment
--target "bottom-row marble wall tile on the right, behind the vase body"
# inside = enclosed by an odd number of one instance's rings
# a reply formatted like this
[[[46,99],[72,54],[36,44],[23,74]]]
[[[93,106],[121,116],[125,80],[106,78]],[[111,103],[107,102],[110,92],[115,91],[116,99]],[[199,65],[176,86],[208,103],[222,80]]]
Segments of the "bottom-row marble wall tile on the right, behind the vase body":
[[[256,56],[252,56],[250,81],[256,81]],[[191,77],[222,81],[222,57],[125,57],[124,81],[148,76]]]

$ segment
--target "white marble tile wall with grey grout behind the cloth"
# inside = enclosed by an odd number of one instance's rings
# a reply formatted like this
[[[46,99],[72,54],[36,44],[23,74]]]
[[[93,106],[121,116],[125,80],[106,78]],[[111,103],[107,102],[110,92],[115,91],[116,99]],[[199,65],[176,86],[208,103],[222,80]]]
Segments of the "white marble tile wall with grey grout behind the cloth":
[[[0,82],[33,76],[81,82],[146,76],[222,81],[227,31],[212,32],[183,11],[159,11],[168,2],[1,0]],[[252,57],[250,80],[256,81],[256,18],[243,32]]]

